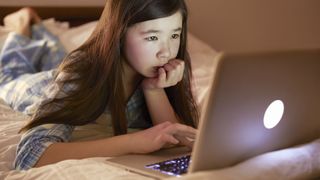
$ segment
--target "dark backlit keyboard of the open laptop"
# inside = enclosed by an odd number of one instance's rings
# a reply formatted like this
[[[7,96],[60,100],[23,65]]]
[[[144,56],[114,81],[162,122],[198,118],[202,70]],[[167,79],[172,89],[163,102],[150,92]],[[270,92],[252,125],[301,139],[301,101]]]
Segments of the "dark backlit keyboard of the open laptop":
[[[171,176],[180,176],[187,172],[190,163],[190,155],[182,156],[175,159],[162,161],[155,164],[146,165],[146,168],[150,168],[161,173]]]

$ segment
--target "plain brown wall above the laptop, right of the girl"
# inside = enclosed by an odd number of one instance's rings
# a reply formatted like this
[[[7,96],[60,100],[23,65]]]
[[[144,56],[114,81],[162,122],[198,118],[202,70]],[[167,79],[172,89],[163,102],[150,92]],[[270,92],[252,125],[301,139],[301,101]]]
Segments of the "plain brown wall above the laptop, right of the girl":
[[[319,0],[186,0],[190,30],[213,48],[320,48]]]

